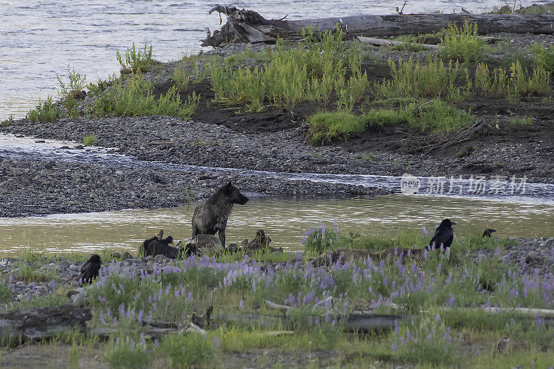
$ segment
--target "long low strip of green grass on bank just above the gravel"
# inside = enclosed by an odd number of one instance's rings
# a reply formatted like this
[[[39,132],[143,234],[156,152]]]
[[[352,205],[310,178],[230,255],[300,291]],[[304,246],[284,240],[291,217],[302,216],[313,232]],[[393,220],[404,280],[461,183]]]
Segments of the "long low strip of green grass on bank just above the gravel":
[[[346,111],[316,113],[307,121],[313,145],[345,140],[354,132],[372,125],[402,126],[420,132],[444,132],[460,129],[475,120],[471,111],[463,111],[442,100],[409,102],[400,109],[370,109],[356,115]]]

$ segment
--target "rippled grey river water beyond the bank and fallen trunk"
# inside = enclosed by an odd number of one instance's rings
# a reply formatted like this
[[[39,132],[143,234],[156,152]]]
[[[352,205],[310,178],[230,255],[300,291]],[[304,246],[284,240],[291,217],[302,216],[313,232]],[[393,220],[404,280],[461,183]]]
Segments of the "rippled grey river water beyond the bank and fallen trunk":
[[[530,3],[547,1],[521,1]],[[118,73],[116,51],[133,42],[152,44],[157,60],[197,53],[204,27],[220,27],[213,1],[205,0],[0,0],[0,121],[22,118],[39,98],[57,95],[57,75],[67,67],[88,82]],[[402,0],[277,0],[224,3],[249,8],[267,18],[305,19],[357,14],[390,14]],[[460,12],[502,6],[503,1],[412,1],[404,13]],[[225,21],[225,19],[223,19]],[[208,48],[206,48],[207,50]]]

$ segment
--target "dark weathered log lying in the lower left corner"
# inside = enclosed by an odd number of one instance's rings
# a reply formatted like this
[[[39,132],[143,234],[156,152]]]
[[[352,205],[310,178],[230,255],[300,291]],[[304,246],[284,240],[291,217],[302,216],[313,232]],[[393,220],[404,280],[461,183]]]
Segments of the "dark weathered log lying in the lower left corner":
[[[48,339],[64,330],[85,330],[92,318],[89,308],[74,305],[36,307],[0,314],[0,338],[4,344]]]

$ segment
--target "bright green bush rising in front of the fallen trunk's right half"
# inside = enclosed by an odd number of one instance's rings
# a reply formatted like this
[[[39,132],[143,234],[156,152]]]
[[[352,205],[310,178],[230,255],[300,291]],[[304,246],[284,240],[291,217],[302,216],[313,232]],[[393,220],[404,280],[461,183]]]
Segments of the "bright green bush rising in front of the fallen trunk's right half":
[[[449,24],[438,44],[438,53],[447,59],[479,60],[485,44],[477,36],[476,24],[465,21],[461,28],[456,24]]]

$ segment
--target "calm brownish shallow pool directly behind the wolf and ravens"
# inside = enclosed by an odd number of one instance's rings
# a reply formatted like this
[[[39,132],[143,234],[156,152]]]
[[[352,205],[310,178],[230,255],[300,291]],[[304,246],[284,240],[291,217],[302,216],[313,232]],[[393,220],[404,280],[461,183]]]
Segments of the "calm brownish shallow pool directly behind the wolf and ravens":
[[[136,253],[145,238],[163,228],[177,240],[190,237],[190,207],[118,210],[105,213],[0,218],[0,253],[21,249],[91,252],[109,248]],[[394,237],[400,228],[434,229],[441,219],[456,222],[457,235],[496,228],[499,237],[554,236],[554,204],[506,203],[483,199],[388,195],[357,199],[271,199],[252,197],[235,206],[227,225],[227,242],[251,240],[264,229],[272,246],[301,249],[309,226],[337,225],[348,235]]]

